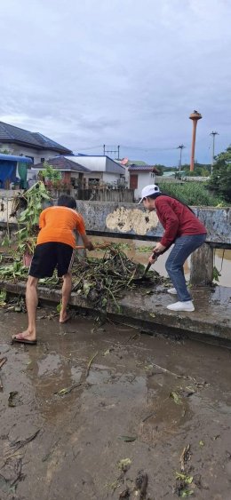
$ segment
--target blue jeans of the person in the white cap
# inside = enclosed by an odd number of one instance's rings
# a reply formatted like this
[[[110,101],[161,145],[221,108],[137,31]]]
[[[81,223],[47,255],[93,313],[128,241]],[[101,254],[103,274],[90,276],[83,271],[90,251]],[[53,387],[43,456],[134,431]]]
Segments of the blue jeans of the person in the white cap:
[[[174,242],[171,254],[166,260],[165,268],[173,287],[177,290],[180,302],[192,300],[187,290],[183,265],[193,251],[198,249],[205,242],[206,234],[188,234],[179,236]]]

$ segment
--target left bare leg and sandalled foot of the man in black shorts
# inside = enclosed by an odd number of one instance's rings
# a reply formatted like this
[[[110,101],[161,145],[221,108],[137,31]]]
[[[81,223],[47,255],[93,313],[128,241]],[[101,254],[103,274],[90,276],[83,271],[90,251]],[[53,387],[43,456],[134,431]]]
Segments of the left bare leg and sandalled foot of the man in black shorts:
[[[26,303],[28,309],[28,329],[25,329],[20,334],[15,335],[16,338],[26,338],[28,340],[36,340],[36,307],[37,307],[37,278],[34,276],[28,277],[26,290]]]

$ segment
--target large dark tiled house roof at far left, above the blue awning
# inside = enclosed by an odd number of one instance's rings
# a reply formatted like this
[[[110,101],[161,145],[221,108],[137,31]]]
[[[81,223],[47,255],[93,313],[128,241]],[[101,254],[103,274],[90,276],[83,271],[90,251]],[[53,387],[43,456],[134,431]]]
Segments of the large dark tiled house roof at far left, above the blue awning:
[[[29,132],[14,125],[0,122],[0,142],[16,142],[27,144],[37,149],[55,149],[61,153],[71,153],[70,149],[61,146],[39,132]]]

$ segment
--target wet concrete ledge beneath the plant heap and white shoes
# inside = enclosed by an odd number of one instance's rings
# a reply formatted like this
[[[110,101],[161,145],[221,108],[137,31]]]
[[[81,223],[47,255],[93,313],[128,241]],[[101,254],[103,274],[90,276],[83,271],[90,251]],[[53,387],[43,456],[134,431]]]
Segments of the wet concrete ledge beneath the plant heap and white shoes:
[[[13,295],[25,295],[26,283],[0,281],[0,289]],[[166,306],[176,300],[163,287],[157,287],[152,295],[146,290],[129,291],[116,306],[108,306],[107,313],[118,322],[127,322],[144,327],[149,333],[161,329],[195,334],[196,336],[217,337],[231,340],[231,288],[212,287],[192,290],[195,312],[173,313]],[[60,290],[38,288],[38,297],[48,303],[60,303]],[[71,295],[70,305],[76,309],[97,311],[87,299],[80,298],[75,292]]]

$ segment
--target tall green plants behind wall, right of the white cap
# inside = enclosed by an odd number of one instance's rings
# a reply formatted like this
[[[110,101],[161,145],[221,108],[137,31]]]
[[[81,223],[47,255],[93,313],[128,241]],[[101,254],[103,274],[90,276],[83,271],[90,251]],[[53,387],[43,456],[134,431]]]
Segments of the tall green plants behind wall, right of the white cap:
[[[188,181],[177,183],[161,181],[159,186],[164,193],[176,196],[187,205],[217,207],[226,204],[221,195],[209,191],[207,182]]]

